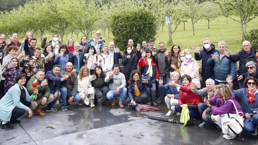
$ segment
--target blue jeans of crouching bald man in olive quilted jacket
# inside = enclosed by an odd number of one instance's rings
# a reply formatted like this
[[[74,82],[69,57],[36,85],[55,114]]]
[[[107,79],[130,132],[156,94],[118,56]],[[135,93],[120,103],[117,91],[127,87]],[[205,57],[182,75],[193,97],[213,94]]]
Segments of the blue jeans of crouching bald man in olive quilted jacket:
[[[62,87],[60,88],[61,98],[62,98],[62,106],[68,104],[68,99],[70,98],[72,92],[68,92],[67,88]],[[74,96],[73,102],[79,102],[81,97],[78,93]]]

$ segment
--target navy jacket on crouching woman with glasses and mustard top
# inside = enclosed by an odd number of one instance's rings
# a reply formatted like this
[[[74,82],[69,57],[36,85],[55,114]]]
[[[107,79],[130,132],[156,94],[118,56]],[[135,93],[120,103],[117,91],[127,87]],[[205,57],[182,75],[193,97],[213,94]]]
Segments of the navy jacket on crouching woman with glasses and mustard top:
[[[127,95],[130,100],[133,100],[134,86],[135,86],[135,83],[133,82],[133,83],[130,83],[128,87]],[[137,87],[142,94],[146,94],[148,96],[149,92],[147,91],[146,87],[152,88],[152,83],[150,83],[150,81],[148,81],[148,83],[142,83],[142,82],[140,84],[137,83]]]

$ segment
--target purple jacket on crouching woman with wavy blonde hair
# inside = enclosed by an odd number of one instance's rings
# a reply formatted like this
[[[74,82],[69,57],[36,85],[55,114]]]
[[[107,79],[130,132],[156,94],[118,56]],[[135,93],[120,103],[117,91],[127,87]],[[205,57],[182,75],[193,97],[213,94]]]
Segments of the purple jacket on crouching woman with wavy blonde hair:
[[[244,117],[245,113],[242,110],[241,106],[238,104],[237,100],[235,100],[235,95],[232,94],[230,98],[236,105],[238,112],[243,112]],[[211,100],[211,111],[213,115],[220,115],[220,114],[226,114],[226,113],[231,113],[231,114],[236,114],[235,107],[231,101],[226,102],[223,98],[219,98],[217,94],[215,94]],[[242,113],[239,114],[240,116],[243,116]]]

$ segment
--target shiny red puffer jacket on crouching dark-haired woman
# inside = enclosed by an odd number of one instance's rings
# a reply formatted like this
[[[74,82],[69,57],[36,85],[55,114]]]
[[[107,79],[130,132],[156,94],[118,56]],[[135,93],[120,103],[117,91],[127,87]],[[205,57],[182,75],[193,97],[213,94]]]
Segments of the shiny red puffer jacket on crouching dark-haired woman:
[[[196,95],[191,91],[191,88],[189,87],[191,83],[189,83],[187,86],[180,86],[179,91],[179,98],[178,98],[178,105],[180,104],[192,104],[192,105],[198,105],[199,103],[202,103],[201,96]]]

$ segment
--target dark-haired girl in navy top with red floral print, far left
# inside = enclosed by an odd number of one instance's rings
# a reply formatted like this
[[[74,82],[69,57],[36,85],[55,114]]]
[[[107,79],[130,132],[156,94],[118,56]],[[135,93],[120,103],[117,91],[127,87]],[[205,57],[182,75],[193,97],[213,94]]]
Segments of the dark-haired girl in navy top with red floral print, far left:
[[[9,88],[15,84],[15,78],[21,73],[19,59],[17,57],[11,58],[11,62],[6,64],[6,69],[2,73],[2,77],[6,78],[4,81],[4,93],[7,93]]]

